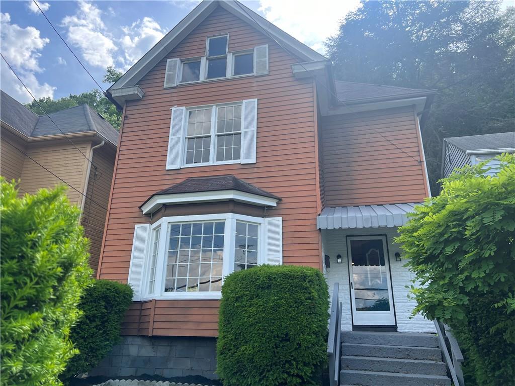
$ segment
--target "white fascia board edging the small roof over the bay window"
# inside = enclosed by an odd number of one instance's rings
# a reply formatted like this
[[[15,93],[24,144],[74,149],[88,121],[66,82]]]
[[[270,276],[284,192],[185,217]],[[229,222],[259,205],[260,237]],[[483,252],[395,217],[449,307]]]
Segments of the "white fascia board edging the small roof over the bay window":
[[[234,200],[258,206],[277,206],[276,198],[253,195],[238,190],[200,191],[154,196],[141,206],[143,214],[155,212],[162,205],[188,204],[194,202],[213,202]]]

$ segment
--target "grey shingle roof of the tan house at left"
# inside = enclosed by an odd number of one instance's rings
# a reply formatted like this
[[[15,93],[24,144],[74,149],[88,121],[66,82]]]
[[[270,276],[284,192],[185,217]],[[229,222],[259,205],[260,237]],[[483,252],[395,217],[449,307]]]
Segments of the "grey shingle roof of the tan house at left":
[[[88,104],[48,115],[65,134],[96,131],[113,145],[118,145],[119,133]],[[38,116],[3,91],[0,100],[0,119],[28,137],[62,134],[46,115]]]

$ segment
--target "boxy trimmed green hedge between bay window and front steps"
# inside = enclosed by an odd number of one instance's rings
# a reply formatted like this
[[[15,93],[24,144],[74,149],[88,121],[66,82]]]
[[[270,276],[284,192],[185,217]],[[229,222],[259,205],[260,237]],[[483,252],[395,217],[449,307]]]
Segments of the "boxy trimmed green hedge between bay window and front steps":
[[[316,384],[329,293],[314,268],[261,266],[222,286],[217,373],[225,386]]]

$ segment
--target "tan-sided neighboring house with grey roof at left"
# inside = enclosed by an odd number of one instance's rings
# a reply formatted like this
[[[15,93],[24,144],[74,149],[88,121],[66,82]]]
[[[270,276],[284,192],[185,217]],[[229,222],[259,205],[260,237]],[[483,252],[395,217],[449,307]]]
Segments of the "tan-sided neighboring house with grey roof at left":
[[[87,104],[48,115],[51,119],[1,92],[0,174],[20,180],[21,193],[68,184],[68,199],[82,209],[81,224],[91,241],[90,265],[96,272],[118,132]]]

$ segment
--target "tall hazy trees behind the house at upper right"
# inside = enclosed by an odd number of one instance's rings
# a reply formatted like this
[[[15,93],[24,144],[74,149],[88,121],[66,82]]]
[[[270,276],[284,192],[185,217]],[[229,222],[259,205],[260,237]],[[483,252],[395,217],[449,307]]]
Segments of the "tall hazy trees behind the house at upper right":
[[[326,42],[338,80],[436,89],[422,136],[436,188],[444,137],[515,128],[515,8],[363,1]]]

